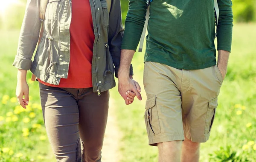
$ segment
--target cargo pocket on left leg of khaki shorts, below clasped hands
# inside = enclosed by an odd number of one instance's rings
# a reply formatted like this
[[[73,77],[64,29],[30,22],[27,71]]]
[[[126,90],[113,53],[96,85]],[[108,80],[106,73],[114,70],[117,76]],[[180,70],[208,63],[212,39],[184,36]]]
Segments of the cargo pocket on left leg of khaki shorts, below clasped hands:
[[[156,95],[148,95],[147,97],[145,124],[148,136],[155,136],[161,132],[159,116],[156,106]]]

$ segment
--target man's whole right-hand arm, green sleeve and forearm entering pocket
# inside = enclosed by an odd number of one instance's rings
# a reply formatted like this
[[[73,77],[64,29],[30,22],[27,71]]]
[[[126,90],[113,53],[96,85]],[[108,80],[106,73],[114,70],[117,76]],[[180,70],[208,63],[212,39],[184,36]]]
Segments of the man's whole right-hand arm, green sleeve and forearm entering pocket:
[[[227,62],[231,51],[233,12],[231,0],[218,0],[220,11],[217,26],[217,50],[218,50],[218,68],[221,71],[222,78],[227,73]]]

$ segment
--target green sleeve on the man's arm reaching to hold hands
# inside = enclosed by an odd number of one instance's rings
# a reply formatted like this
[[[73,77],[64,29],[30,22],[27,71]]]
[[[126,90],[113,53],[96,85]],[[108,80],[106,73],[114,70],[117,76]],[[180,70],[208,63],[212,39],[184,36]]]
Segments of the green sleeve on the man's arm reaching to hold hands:
[[[146,0],[130,0],[125,20],[125,33],[122,49],[136,50],[145,24]]]

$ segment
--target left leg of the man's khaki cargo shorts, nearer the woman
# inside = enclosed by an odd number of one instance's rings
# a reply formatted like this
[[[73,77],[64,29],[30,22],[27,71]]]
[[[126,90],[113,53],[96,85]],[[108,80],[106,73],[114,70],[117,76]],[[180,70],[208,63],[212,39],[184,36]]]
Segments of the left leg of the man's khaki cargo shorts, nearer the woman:
[[[145,124],[149,145],[184,140],[180,96],[181,72],[182,70],[164,64],[145,62]]]

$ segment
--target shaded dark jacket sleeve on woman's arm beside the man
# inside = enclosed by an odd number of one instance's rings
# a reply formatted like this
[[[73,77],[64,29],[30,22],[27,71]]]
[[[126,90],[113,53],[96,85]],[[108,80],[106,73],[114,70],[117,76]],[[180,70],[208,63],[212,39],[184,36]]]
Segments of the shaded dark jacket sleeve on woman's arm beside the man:
[[[111,10],[109,12],[109,31],[108,44],[113,63],[115,65],[115,76],[118,74],[121,56],[121,43],[124,34],[122,25],[122,13],[120,0],[111,1]],[[132,64],[130,66],[130,75],[133,75]]]

